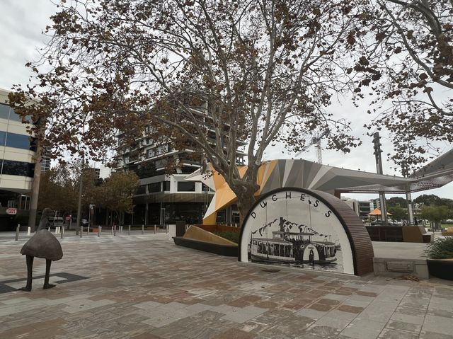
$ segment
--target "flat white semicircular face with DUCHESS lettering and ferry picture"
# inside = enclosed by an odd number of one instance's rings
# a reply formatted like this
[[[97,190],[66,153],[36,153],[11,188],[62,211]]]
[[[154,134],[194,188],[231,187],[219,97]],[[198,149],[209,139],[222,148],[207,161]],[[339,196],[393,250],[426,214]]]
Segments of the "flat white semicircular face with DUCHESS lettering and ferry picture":
[[[239,260],[354,274],[343,224],[320,197],[307,192],[262,195],[243,224]]]

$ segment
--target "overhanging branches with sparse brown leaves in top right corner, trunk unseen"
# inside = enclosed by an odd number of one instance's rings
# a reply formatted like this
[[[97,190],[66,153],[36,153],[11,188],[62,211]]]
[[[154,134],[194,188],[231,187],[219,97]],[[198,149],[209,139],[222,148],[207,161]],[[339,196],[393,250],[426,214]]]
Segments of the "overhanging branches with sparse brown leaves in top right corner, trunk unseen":
[[[350,38],[360,47],[348,71],[362,74],[355,93],[370,93],[379,113],[368,127],[391,132],[391,159],[406,176],[437,151],[432,141],[453,142],[453,1],[363,4]]]

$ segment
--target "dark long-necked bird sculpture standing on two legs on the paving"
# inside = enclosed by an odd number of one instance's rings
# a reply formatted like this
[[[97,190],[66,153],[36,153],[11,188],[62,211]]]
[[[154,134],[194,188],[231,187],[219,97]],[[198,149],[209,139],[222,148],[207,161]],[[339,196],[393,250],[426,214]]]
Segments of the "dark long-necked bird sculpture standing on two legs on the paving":
[[[35,257],[45,259],[45,278],[42,288],[50,289],[55,287],[55,285],[49,284],[50,265],[52,261],[60,260],[63,257],[63,251],[57,238],[46,229],[51,215],[52,210],[50,208],[45,208],[42,211],[38,229],[21,249],[21,254],[25,255],[27,260],[27,285],[20,288],[21,291],[31,291],[33,259]]]

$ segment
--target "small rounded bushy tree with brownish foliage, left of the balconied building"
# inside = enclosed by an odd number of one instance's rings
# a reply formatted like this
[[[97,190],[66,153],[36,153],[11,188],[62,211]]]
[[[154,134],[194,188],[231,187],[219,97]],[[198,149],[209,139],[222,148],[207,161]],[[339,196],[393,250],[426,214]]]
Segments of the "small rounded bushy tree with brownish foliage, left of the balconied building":
[[[125,213],[134,212],[134,193],[139,185],[139,177],[133,171],[117,171],[93,191],[96,207],[115,212],[121,223]]]

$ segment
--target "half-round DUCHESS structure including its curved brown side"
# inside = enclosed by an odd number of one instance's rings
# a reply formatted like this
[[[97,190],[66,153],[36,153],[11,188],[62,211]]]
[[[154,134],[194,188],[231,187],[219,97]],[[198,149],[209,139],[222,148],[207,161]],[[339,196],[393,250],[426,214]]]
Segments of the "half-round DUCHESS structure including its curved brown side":
[[[373,248],[357,214],[331,194],[278,188],[261,195],[244,220],[239,261],[365,275]]]

